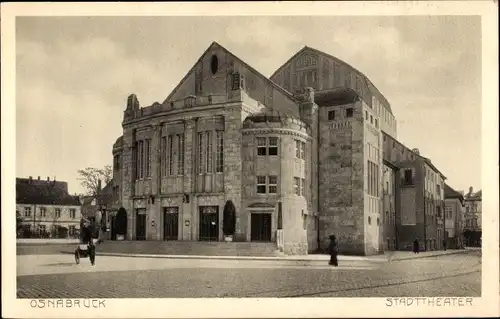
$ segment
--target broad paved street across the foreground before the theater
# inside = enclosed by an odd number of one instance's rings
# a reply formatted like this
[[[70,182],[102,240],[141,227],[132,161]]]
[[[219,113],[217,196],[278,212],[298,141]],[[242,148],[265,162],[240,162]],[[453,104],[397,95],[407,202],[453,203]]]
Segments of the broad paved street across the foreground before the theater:
[[[19,298],[479,297],[481,252],[392,262],[17,256]]]

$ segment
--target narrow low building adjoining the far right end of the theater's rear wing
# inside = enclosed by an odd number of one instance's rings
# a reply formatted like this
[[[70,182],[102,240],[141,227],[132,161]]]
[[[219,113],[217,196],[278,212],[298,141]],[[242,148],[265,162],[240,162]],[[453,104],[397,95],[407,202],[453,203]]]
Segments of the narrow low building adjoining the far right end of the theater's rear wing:
[[[446,246],[462,248],[464,246],[465,201],[462,193],[448,184],[444,185]]]

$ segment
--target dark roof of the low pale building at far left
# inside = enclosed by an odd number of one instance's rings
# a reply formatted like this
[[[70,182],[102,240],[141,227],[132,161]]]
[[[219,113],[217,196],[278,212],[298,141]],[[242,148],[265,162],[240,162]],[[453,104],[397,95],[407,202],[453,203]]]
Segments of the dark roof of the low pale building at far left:
[[[16,182],[16,203],[29,205],[80,206],[78,196],[72,196],[54,183],[33,184]]]

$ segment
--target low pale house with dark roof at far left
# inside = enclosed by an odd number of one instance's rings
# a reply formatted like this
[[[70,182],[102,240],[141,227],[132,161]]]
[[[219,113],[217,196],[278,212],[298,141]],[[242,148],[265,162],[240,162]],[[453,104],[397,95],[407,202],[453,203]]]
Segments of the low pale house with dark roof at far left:
[[[80,200],[68,193],[66,182],[17,178],[16,215],[18,237],[78,237]]]

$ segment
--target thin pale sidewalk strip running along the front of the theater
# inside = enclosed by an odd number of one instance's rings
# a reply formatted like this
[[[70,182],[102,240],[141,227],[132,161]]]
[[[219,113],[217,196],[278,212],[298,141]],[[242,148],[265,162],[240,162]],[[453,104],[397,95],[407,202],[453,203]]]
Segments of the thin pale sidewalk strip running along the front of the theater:
[[[366,261],[373,263],[385,263],[417,258],[431,258],[443,255],[464,254],[470,252],[471,249],[461,250],[446,250],[446,251],[427,251],[419,254],[407,251],[391,251],[383,255],[374,256],[346,256],[339,255],[339,261]],[[137,254],[137,253],[112,253],[98,252],[100,256],[110,257],[136,257],[136,258],[167,258],[167,259],[218,259],[218,260],[270,260],[270,261],[328,261],[329,255],[311,254],[311,255],[294,255],[294,256],[204,256],[204,255],[162,255],[162,254]]]

